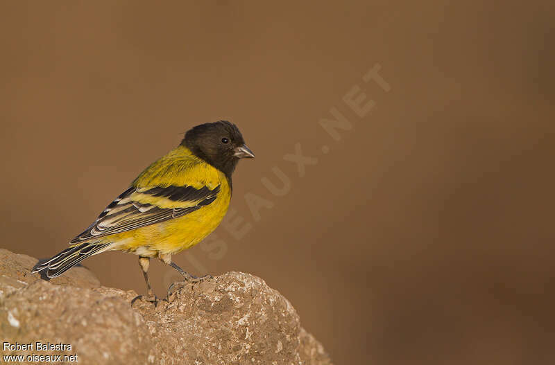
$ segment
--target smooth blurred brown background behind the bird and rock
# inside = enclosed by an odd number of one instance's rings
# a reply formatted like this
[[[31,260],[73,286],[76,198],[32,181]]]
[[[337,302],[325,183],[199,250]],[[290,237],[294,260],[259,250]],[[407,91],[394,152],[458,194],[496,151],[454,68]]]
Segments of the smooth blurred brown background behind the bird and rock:
[[[2,1],[1,246],[64,249],[180,133],[228,118],[257,154],[234,175],[250,231],[179,265],[261,276],[336,364],[554,362],[555,6],[518,3]],[[391,91],[361,80],[375,64]],[[247,193],[273,204],[259,221]],[[144,292],[136,256],[84,263]],[[151,273],[158,294],[178,280]]]

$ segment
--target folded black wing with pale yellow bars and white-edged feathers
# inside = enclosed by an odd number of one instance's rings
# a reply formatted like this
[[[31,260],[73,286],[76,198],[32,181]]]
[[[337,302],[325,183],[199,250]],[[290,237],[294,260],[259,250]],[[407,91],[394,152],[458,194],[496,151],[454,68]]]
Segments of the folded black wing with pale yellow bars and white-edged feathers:
[[[181,217],[214,202],[219,191],[219,185],[212,190],[206,186],[200,189],[192,186],[128,188],[71,243]]]

